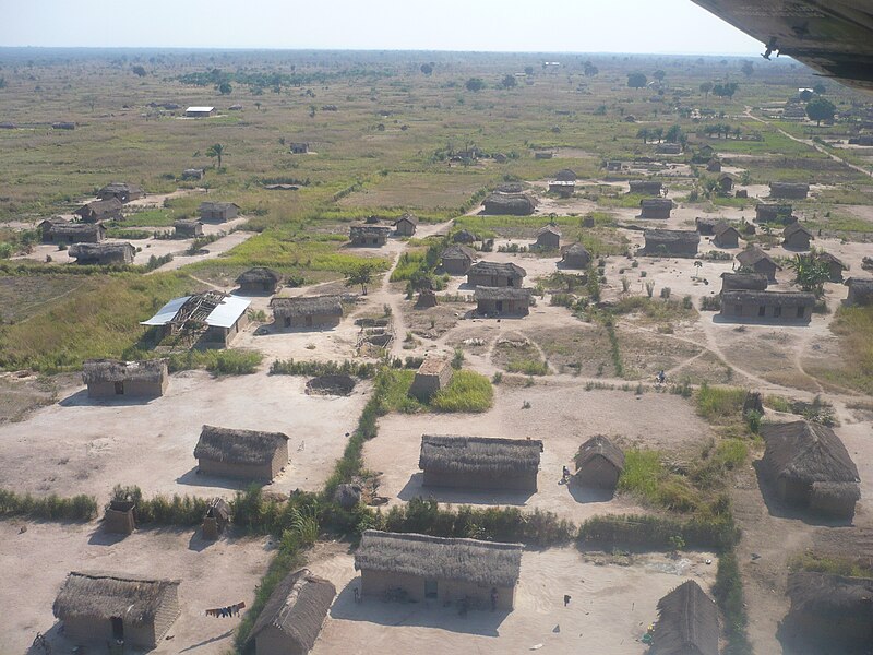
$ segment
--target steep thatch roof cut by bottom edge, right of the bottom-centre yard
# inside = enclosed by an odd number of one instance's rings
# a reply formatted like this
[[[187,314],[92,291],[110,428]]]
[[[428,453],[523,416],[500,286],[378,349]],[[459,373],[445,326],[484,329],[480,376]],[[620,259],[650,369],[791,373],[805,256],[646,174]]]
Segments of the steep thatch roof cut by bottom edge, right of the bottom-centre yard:
[[[658,602],[651,636],[658,655],[718,655],[718,608],[689,580]]]

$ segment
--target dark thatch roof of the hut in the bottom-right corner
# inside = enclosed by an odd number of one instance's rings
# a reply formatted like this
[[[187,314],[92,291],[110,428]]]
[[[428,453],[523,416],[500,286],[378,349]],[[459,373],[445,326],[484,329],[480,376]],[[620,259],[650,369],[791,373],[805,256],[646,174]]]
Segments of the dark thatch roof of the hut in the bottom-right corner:
[[[788,574],[788,597],[792,612],[837,620],[860,615],[868,622],[873,620],[873,580],[869,577],[798,571]]]

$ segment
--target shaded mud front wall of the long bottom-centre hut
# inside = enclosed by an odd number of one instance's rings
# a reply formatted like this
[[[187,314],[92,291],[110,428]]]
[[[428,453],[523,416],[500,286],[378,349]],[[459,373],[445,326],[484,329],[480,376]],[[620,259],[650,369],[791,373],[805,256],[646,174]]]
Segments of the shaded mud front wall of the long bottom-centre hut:
[[[422,576],[390,571],[361,570],[361,593],[364,596],[382,599],[386,591],[396,588],[404,590],[410,600],[418,603],[428,600],[424,597],[424,577]],[[470,609],[490,609],[492,588],[490,585],[476,582],[436,580],[436,598],[431,598],[431,600],[444,605],[469,598],[471,600]],[[498,609],[512,610],[515,606],[515,586],[497,587],[497,591]]]

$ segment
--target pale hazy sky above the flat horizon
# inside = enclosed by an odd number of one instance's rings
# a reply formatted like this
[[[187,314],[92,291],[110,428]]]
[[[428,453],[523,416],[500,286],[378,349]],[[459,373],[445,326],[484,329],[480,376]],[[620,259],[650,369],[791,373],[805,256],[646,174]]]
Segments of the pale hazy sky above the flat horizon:
[[[0,0],[0,46],[753,55],[691,0]]]

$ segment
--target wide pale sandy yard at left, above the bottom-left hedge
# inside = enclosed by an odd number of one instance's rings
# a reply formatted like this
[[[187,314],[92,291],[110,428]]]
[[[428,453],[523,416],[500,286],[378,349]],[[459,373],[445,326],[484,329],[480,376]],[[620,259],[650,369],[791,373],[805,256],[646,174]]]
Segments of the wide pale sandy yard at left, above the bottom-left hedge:
[[[271,430],[290,437],[291,462],[268,488],[287,492],[322,487],[343,454],[369,393],[310,396],[304,378],[174,374],[167,395],[148,403],[89,401],[80,388],[24,422],[0,426],[4,486],[38,493],[96,493],[116,484],[152,493],[232,496],[244,480],[195,473],[193,450],[204,424]],[[253,403],[256,403],[254,409]]]

